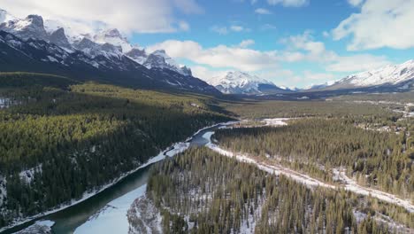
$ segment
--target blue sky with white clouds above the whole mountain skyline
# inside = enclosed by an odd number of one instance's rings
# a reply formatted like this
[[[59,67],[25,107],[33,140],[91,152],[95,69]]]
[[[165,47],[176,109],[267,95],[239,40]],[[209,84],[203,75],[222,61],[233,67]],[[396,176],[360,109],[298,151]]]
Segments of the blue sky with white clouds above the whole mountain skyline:
[[[117,27],[197,76],[307,87],[413,58],[414,0],[0,0],[16,14]],[[73,27],[74,24],[73,24]]]

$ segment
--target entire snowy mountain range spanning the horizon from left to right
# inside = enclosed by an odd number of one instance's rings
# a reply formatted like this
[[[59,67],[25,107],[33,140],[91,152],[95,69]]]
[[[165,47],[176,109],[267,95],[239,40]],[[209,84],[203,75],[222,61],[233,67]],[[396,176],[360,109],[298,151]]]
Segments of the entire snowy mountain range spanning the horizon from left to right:
[[[263,96],[332,90],[406,91],[414,87],[414,60],[351,74],[337,82],[303,90],[290,90],[241,71],[202,81],[164,50],[149,53],[129,43],[116,28],[99,31],[96,35],[82,35],[58,21],[44,21],[38,15],[19,19],[4,10],[0,10],[0,48],[2,72],[51,73],[79,80],[214,95],[220,92]]]

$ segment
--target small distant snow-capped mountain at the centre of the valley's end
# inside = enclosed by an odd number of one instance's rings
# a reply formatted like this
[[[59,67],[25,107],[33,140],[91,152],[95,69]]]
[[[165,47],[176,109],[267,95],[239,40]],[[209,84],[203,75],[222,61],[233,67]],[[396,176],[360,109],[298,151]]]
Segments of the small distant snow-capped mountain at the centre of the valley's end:
[[[226,94],[262,95],[277,92],[286,92],[273,82],[240,71],[228,72],[223,76],[216,76],[207,81],[216,89]]]

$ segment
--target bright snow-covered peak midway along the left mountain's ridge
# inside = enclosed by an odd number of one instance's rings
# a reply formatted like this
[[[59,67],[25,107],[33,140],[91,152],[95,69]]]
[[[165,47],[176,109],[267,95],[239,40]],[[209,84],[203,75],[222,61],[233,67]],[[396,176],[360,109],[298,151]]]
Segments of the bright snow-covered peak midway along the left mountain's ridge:
[[[112,28],[108,30],[103,30],[94,36],[94,41],[96,43],[110,43],[115,46],[120,46],[122,52],[126,53],[131,51],[134,47],[128,43],[126,37],[122,36],[119,33],[117,28]]]

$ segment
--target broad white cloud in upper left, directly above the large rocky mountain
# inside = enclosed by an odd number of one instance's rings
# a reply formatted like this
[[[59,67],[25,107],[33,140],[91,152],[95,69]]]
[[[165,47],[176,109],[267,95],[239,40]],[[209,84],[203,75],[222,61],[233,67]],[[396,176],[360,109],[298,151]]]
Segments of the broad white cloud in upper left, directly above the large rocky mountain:
[[[188,23],[177,19],[176,12],[203,12],[195,0],[0,0],[0,5],[18,17],[35,13],[70,27],[85,23],[91,31],[104,23],[125,33],[188,30]]]

